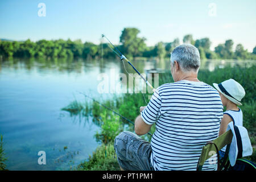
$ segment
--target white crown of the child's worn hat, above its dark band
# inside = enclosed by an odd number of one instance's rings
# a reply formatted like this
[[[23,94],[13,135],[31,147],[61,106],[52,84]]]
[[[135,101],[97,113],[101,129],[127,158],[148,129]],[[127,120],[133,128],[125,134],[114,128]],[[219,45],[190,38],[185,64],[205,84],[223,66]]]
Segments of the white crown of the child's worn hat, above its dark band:
[[[242,85],[240,85],[236,80],[230,78],[229,80],[221,82],[221,84],[236,100],[241,101],[245,96],[245,89],[243,89]]]

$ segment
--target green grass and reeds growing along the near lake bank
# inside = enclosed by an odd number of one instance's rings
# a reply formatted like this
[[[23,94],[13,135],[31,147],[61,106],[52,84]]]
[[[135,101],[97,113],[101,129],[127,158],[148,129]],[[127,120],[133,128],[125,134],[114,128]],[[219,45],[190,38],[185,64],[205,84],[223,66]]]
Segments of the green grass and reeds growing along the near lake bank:
[[[213,83],[220,83],[229,78],[233,78],[238,81],[243,88],[245,89],[246,95],[242,99],[241,110],[243,111],[243,126],[246,127],[249,133],[251,144],[255,145],[256,142],[256,75],[255,75],[256,66],[253,65],[250,68],[241,68],[241,67],[226,67],[224,69],[217,68],[213,72],[207,70],[199,71],[199,80],[206,82],[209,85]],[[159,85],[162,85],[166,82],[174,82],[171,77],[171,73],[160,73],[159,74]],[[144,94],[144,97],[149,96],[150,94]],[[143,95],[139,94],[122,94],[122,96],[114,96],[112,100],[99,100],[102,104],[112,108],[117,111],[117,113],[123,115],[126,118],[129,118],[131,121],[134,121],[137,115],[139,115],[139,107],[146,105]],[[78,108],[76,108],[78,106]],[[129,124],[127,121],[119,118],[117,115],[113,114],[112,111],[109,111],[105,107],[98,105],[96,102],[86,102],[85,105],[79,104],[79,102],[72,102],[68,106],[67,111],[74,111],[74,113],[79,113],[79,110],[84,114],[91,114],[94,118],[93,122],[101,126],[100,133],[96,133],[95,137],[98,141],[102,143],[107,143],[109,147],[108,152],[110,154],[105,158],[105,145],[98,147],[93,156],[81,163],[79,169],[81,170],[118,170],[116,166],[117,162],[110,156],[113,154],[114,149],[112,150],[114,137],[122,130],[133,131],[134,126]],[[86,111],[84,111],[86,110]],[[150,133],[154,133],[155,125],[151,127]],[[151,137],[149,135],[143,135],[143,139],[150,141]],[[255,150],[253,155],[246,157],[253,162],[256,162],[256,153]]]

